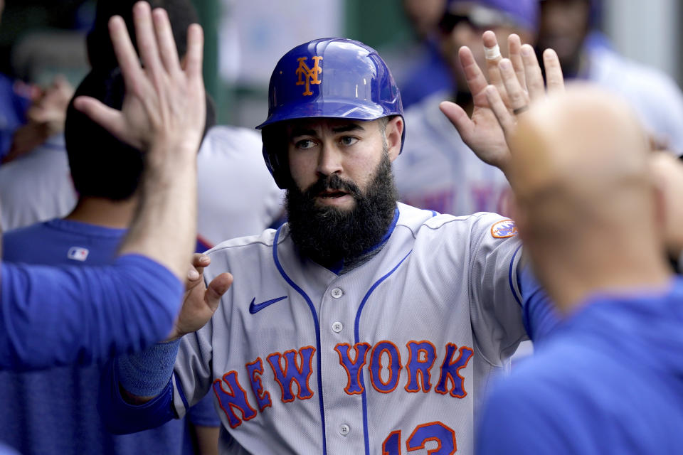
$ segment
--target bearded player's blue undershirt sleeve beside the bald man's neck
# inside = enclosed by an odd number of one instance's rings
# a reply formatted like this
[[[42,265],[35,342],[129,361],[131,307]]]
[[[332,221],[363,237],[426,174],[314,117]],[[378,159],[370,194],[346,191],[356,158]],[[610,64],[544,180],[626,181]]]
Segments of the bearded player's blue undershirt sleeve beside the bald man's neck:
[[[520,265],[517,277],[522,297],[522,321],[529,339],[538,343],[548,336],[560,321],[560,315],[555,309],[546,291],[534,277],[529,265]]]

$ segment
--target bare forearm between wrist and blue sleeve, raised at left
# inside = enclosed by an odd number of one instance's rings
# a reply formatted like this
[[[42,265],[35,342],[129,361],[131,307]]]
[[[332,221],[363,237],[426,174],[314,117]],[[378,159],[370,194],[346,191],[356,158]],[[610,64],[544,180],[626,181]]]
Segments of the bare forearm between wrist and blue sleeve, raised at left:
[[[154,147],[188,146],[155,143]],[[183,151],[183,150],[181,150]],[[136,253],[163,264],[183,279],[196,243],[196,150],[148,156],[137,214],[121,246],[121,254]],[[154,159],[154,158],[149,158]]]

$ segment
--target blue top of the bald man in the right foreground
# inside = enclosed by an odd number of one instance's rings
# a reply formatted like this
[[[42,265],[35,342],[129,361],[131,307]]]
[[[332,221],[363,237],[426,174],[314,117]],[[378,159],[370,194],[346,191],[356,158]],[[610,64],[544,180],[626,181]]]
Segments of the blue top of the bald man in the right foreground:
[[[593,296],[494,387],[477,453],[680,454],[682,328],[682,279]]]

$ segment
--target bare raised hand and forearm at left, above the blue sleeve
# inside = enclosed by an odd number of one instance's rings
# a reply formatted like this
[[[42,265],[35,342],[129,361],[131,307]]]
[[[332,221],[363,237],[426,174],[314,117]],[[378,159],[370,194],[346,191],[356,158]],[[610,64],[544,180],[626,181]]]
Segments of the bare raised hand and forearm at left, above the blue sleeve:
[[[196,237],[196,153],[206,116],[201,76],[203,33],[193,24],[181,67],[166,11],[134,5],[140,58],[125,22],[110,20],[110,35],[126,84],[121,111],[79,97],[75,107],[115,137],[146,151],[141,198],[120,254],[154,259],[179,279]]]

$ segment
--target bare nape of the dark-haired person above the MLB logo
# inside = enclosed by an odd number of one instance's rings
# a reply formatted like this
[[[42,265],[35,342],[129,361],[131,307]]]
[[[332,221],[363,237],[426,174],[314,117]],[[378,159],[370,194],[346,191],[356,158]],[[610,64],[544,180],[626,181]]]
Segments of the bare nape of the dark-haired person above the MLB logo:
[[[65,220],[78,221],[105,228],[127,229],[135,213],[137,198],[110,200],[106,198],[84,197],[78,200],[75,208]]]

